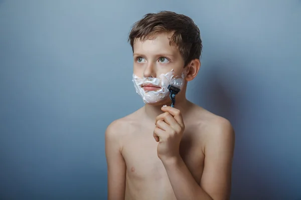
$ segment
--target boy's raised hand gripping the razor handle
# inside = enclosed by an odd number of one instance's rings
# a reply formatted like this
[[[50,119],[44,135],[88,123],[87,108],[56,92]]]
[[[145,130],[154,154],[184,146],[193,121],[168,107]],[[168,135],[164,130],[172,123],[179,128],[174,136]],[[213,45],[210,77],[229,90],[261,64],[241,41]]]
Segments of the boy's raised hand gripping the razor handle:
[[[161,109],[165,112],[156,117],[154,137],[159,141],[157,151],[162,160],[179,156],[185,125],[179,109],[171,106],[163,106]]]

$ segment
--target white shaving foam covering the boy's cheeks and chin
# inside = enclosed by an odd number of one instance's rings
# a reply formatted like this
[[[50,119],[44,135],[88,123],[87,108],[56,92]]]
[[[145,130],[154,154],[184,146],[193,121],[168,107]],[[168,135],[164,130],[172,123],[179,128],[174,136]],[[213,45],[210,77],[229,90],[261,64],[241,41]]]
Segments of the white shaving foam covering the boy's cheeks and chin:
[[[154,77],[143,77],[140,78],[133,73],[133,83],[136,89],[136,92],[142,97],[144,103],[157,103],[161,100],[164,100],[169,96],[170,92],[168,90],[168,85],[172,84],[180,89],[182,89],[184,84],[186,70],[181,74],[181,77],[174,77],[174,69],[171,71],[161,74],[159,78]],[[150,83],[161,88],[156,91],[144,91],[141,87],[143,83]]]

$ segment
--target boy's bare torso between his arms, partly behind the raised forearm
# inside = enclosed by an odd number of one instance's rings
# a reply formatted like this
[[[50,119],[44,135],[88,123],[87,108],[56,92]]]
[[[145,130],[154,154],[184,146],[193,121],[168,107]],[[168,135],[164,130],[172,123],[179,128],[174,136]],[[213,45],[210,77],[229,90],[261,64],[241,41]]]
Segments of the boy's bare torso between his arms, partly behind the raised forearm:
[[[203,108],[195,112],[205,111]],[[209,113],[209,112],[208,112]],[[153,136],[154,123],[141,123],[130,115],[126,120],[128,130],[122,138],[122,155],[126,163],[125,199],[176,199],[165,167],[157,155],[158,142]],[[180,154],[200,184],[204,167],[204,140],[207,120],[204,118],[184,118],[185,131],[180,144]],[[210,116],[210,114],[208,115]],[[142,126],[143,124],[143,126]]]

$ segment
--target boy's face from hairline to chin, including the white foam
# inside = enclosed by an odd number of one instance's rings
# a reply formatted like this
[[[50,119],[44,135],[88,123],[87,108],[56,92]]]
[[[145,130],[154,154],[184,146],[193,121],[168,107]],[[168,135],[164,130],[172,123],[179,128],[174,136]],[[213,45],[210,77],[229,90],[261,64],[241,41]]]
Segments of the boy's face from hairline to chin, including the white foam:
[[[184,59],[177,46],[170,45],[171,34],[161,33],[155,39],[133,44],[133,82],[145,103],[158,104],[167,99],[168,84],[184,85]]]

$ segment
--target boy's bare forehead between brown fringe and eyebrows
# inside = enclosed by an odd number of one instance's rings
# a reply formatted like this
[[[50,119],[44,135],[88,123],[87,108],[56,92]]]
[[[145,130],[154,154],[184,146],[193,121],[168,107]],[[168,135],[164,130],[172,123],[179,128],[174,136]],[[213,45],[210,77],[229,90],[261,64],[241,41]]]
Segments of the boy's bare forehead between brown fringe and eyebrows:
[[[170,53],[174,55],[180,54],[178,47],[174,44],[170,44],[170,38],[171,34],[168,33],[159,33],[156,37],[145,39],[143,41],[141,41],[140,38],[136,38],[133,44],[134,53]]]

